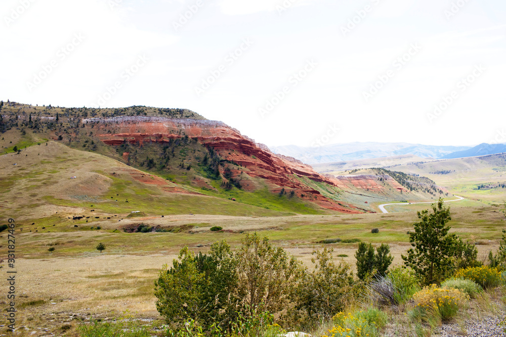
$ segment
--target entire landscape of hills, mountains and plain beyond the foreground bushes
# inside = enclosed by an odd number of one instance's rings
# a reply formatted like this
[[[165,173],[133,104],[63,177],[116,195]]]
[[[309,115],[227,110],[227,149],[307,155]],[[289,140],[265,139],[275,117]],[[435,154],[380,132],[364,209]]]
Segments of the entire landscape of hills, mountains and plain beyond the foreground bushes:
[[[1,113],[0,210],[16,220],[20,335],[72,335],[126,309],[161,325],[153,282],[185,246],[237,249],[258,232],[310,268],[324,245],[356,271],[358,242],[387,243],[402,264],[416,211],[439,198],[454,201],[451,232],[480,261],[504,228],[504,155],[312,167],[189,110],[11,102]]]

